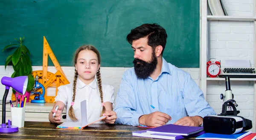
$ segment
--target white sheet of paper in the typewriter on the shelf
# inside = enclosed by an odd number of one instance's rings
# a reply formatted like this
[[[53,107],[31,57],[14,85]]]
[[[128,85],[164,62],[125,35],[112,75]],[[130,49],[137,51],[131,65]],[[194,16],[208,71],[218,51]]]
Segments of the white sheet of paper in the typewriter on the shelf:
[[[225,68],[250,68],[250,60],[225,60]]]

